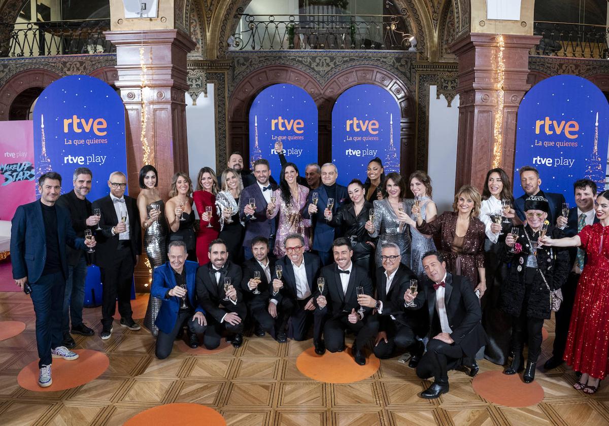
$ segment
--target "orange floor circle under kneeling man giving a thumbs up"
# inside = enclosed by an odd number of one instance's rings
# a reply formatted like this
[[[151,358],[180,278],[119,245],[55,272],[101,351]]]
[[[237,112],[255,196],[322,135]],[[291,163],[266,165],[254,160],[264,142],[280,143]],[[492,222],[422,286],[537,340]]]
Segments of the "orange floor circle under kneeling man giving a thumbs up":
[[[351,345],[342,352],[315,354],[315,348],[309,347],[296,359],[298,371],[318,382],[353,383],[368,379],[378,371],[381,361],[370,354],[366,365],[357,365],[351,355]]]

